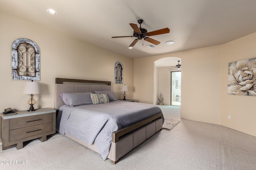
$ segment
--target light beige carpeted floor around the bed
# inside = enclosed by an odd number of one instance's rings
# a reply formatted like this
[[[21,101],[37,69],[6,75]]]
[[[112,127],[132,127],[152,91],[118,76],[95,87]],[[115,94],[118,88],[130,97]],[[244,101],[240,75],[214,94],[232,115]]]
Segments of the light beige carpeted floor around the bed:
[[[0,150],[0,169],[61,170],[255,170],[256,137],[209,123],[181,119],[113,165],[100,154],[57,133],[23,149]],[[13,164],[20,161],[20,164]],[[2,163],[2,162],[1,162]]]

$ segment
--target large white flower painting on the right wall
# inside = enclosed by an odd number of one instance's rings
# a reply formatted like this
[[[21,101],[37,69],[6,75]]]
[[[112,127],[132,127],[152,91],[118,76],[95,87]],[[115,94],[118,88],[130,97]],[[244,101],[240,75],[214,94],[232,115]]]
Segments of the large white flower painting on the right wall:
[[[228,63],[228,94],[256,96],[256,58]]]

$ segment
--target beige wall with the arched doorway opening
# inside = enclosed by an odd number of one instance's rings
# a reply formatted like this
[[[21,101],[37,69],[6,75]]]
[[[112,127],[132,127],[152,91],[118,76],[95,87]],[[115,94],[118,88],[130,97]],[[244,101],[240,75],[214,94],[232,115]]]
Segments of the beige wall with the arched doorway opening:
[[[154,61],[165,57],[182,61],[181,118],[220,124],[221,46],[134,59],[134,99],[154,104]]]

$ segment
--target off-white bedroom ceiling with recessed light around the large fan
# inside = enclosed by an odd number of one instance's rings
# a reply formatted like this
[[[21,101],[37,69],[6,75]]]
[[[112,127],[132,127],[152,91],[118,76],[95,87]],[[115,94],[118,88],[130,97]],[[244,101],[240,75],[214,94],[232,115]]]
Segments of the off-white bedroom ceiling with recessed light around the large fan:
[[[50,15],[46,9],[54,9]],[[184,51],[221,45],[256,32],[256,0],[1,0],[0,11],[92,43],[127,57]],[[168,27],[170,33],[151,38],[161,43],[148,48],[138,41],[129,23],[150,31]],[[172,40],[174,44],[166,45]],[[176,64],[176,63],[175,63]]]

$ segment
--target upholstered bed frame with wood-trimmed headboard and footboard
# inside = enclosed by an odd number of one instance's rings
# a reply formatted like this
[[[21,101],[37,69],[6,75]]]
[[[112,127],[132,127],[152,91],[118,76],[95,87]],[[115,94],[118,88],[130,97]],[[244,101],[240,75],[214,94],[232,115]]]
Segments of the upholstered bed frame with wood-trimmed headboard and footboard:
[[[55,79],[55,109],[58,111],[60,106],[64,105],[60,94],[64,92],[94,92],[94,91],[111,91],[111,82],[94,81],[94,80],[76,80],[66,78]],[[134,123],[128,127],[124,127],[112,132],[112,143],[108,158],[113,164],[116,164],[122,156],[134,149],[140,143],[144,142],[150,136],[162,129],[162,113],[158,113],[152,117]],[[96,145],[88,145],[84,141],[76,139],[68,134],[70,139],[99,152]]]

